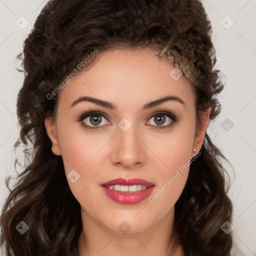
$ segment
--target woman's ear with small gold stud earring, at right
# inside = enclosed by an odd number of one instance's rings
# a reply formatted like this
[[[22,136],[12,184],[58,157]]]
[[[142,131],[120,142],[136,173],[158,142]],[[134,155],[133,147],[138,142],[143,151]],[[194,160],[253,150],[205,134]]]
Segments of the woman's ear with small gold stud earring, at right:
[[[196,152],[200,151],[206,129],[209,123],[209,115],[210,115],[211,107],[208,107],[205,111],[201,112],[199,123],[196,127],[193,141],[193,148],[195,148]],[[194,155],[194,154],[193,154]]]

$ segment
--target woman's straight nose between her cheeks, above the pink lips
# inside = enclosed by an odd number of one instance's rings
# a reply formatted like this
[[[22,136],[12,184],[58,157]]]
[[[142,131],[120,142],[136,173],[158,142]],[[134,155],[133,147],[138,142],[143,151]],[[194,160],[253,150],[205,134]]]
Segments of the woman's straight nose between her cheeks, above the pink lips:
[[[123,131],[117,128],[117,134],[113,138],[111,162],[114,165],[122,165],[124,168],[141,166],[146,160],[146,146],[143,139],[136,131],[136,125]]]

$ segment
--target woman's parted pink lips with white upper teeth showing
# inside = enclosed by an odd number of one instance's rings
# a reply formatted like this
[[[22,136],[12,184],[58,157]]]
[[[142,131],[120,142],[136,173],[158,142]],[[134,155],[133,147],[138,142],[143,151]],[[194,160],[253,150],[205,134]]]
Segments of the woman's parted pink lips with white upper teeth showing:
[[[142,187],[142,190],[130,191],[128,188],[134,187],[134,185]],[[124,189],[124,186],[126,189]],[[117,203],[134,204],[149,196],[154,189],[154,184],[140,178],[117,178],[102,183],[101,187],[105,194],[113,201]],[[125,191],[116,191],[119,187],[121,188],[120,190]]]

